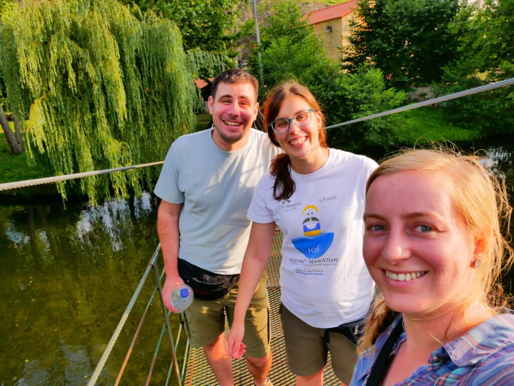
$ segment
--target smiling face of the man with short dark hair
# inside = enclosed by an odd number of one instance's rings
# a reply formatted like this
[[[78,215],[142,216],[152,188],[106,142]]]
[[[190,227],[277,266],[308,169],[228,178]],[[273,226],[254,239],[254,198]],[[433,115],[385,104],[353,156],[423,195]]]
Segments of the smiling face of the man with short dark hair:
[[[209,97],[209,113],[214,122],[212,138],[222,150],[242,148],[259,111],[257,95],[251,83],[218,84],[216,94]]]

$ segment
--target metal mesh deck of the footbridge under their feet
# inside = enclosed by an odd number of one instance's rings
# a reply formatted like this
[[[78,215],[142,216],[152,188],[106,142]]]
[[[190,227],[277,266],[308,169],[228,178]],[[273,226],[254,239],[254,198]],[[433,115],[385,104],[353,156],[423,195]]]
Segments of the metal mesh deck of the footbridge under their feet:
[[[271,379],[274,386],[291,386],[296,384],[296,376],[293,375],[287,367],[284,335],[282,333],[282,324],[279,315],[279,270],[282,259],[280,253],[282,239],[282,232],[279,230],[276,231],[273,236],[273,243],[271,244],[269,260],[266,266],[268,269],[266,288],[268,289],[271,308],[271,352],[273,353],[273,365],[271,366],[269,379]],[[207,359],[205,358],[203,348],[191,348],[190,350],[183,384],[186,386],[217,385],[216,378],[214,374],[212,374]],[[232,360],[232,372],[235,386],[253,385],[253,377],[246,368],[244,359]],[[325,367],[323,384],[328,386],[341,384],[332,370],[330,358],[328,358],[328,363]]]

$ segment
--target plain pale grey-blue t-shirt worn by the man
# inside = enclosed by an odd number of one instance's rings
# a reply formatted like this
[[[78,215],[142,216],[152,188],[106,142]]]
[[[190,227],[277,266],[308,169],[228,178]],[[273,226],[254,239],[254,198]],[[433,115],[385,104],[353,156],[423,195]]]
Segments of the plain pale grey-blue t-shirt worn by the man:
[[[212,130],[172,143],[154,193],[168,203],[183,203],[180,259],[211,272],[236,274],[250,236],[246,212],[253,191],[281,150],[252,128],[243,148],[225,152],[214,144]]]

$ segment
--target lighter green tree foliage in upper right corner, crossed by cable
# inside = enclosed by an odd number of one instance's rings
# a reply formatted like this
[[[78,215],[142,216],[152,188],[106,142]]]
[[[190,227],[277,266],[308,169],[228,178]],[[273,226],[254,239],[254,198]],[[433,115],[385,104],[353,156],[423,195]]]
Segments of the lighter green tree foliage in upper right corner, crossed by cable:
[[[489,0],[483,8],[464,8],[452,25],[458,58],[445,66],[438,95],[450,94],[514,77],[514,0]],[[512,133],[514,88],[504,87],[443,105],[452,122],[481,130],[484,135]]]

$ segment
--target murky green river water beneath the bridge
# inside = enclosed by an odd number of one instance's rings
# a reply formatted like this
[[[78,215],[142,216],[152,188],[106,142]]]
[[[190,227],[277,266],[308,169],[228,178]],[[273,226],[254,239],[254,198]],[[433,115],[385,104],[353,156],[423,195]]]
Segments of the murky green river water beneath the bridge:
[[[514,182],[514,146],[474,148],[486,149],[495,171]],[[157,245],[156,209],[150,193],[94,207],[0,205],[0,386],[87,383]],[[153,285],[151,275],[100,384],[115,382]],[[161,326],[154,300],[120,384],[144,384]],[[171,359],[166,337],[157,358],[156,385]]]

